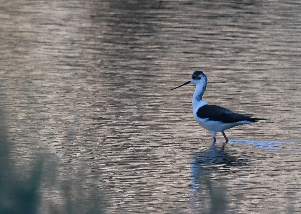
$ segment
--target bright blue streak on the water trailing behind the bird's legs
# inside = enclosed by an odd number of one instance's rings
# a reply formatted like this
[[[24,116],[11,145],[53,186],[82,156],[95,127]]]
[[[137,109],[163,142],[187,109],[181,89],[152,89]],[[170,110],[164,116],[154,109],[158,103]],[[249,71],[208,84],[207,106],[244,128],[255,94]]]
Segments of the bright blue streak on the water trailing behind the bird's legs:
[[[285,148],[286,144],[294,144],[296,142],[282,142],[282,141],[267,141],[267,140],[229,140],[230,144],[250,143],[262,149],[287,149],[287,150],[301,150]]]

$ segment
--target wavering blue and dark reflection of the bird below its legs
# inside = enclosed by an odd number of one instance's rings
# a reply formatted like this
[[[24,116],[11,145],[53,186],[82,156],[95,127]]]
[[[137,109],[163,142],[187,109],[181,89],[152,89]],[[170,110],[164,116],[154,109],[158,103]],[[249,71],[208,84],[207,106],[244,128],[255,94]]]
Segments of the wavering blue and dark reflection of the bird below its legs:
[[[191,184],[192,184],[192,199],[191,208],[194,212],[199,213],[201,207],[204,209],[204,203],[210,198],[210,209],[211,213],[224,213],[226,210],[226,199],[224,197],[224,186],[213,182],[210,178],[210,172],[212,169],[218,168],[214,173],[224,172],[223,169],[226,167],[235,167],[246,165],[245,160],[241,160],[231,152],[227,151],[227,144],[212,146],[203,152],[197,152],[192,157],[191,162]],[[206,190],[208,195],[202,192]],[[208,203],[207,203],[208,204]],[[206,208],[206,207],[205,207]],[[218,209],[218,212],[216,209]],[[215,210],[215,211],[213,211]]]

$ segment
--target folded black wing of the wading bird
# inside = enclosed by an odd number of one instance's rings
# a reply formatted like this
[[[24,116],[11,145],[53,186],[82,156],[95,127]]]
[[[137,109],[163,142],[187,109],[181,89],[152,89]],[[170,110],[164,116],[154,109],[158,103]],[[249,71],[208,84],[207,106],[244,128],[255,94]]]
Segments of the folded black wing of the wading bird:
[[[232,123],[247,120],[250,122],[256,122],[257,120],[265,120],[262,118],[252,118],[250,115],[237,114],[229,109],[216,106],[216,105],[204,105],[197,110],[197,116],[199,118],[220,121],[222,123]]]

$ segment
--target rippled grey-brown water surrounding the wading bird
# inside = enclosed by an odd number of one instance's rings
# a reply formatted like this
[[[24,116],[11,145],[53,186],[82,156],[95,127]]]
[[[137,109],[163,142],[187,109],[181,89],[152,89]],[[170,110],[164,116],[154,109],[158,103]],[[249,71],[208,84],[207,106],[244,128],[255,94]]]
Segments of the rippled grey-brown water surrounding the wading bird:
[[[57,173],[43,200],[63,203],[62,183],[76,180],[103,193],[105,213],[206,213],[214,195],[225,213],[299,212],[300,9],[292,0],[3,3],[1,102],[16,168],[48,154]],[[208,77],[207,103],[270,120],[212,145],[193,118],[194,87],[169,90],[196,70]]]

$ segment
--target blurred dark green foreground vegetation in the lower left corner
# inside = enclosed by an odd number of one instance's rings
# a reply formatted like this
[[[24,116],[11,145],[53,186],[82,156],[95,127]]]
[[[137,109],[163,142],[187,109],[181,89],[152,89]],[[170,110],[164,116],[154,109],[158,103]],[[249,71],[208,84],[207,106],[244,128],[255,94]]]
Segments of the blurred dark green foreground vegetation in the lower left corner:
[[[49,154],[36,154],[35,160],[29,163],[32,170],[28,173],[16,168],[11,159],[13,146],[7,139],[5,119],[1,109],[0,107],[0,213],[103,214],[103,193],[95,185],[87,188],[85,175],[78,172],[80,166],[75,165],[72,170],[65,172],[62,185],[56,178],[58,175],[56,158]],[[41,188],[47,189],[48,193],[56,190],[61,192],[64,198],[63,204],[52,200],[45,201],[40,192]],[[47,211],[41,212],[42,204],[47,204]]]

